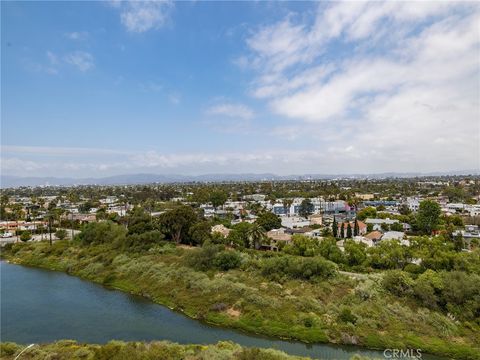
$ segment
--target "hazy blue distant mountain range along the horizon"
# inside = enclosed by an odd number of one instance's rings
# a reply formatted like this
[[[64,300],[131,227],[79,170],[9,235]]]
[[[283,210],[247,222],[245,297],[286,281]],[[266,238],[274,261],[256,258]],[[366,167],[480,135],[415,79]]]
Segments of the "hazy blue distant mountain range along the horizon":
[[[151,183],[185,183],[185,182],[221,182],[221,181],[265,181],[265,180],[308,180],[308,179],[381,179],[388,177],[417,177],[442,175],[480,175],[480,170],[464,170],[432,173],[380,173],[380,174],[304,174],[304,175],[275,175],[275,174],[205,174],[205,175],[159,175],[159,174],[126,174],[102,178],[66,178],[66,177],[20,177],[2,175],[0,187],[19,186],[73,186],[73,185],[130,185]]]

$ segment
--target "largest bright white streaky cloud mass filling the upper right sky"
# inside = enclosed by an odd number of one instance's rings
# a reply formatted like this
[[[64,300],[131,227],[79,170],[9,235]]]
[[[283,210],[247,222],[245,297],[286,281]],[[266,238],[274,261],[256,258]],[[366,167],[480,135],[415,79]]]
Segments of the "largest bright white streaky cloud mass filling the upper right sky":
[[[355,149],[344,164],[369,171],[476,168],[479,23],[473,3],[320,3],[253,32],[241,63],[252,96],[290,119],[282,138]]]

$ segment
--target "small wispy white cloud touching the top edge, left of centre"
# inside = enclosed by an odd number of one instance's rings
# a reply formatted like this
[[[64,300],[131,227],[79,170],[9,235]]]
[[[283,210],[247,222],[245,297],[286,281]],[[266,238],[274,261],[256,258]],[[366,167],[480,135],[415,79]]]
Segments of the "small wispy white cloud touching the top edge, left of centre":
[[[169,0],[122,1],[114,2],[112,5],[120,10],[120,20],[127,31],[142,33],[165,26],[169,20],[173,2]]]

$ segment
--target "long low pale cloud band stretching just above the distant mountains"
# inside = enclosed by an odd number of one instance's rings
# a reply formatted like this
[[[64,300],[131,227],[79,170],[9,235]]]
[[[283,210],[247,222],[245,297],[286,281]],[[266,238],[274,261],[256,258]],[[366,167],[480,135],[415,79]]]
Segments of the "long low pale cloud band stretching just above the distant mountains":
[[[271,172],[291,175],[475,170],[472,167],[464,167],[468,163],[465,163],[458,153],[449,153],[445,158],[428,158],[427,166],[411,169],[408,158],[403,156],[411,153],[412,149],[402,147],[399,141],[394,144],[394,150],[385,153],[382,151],[385,142],[382,139],[375,140],[380,142],[379,147],[338,143],[315,150],[276,148],[194,153],[42,147],[35,152],[35,147],[31,147],[16,149],[16,153],[2,151],[1,169],[5,175],[57,177],[88,177],[92,173],[96,177],[101,177],[141,172],[163,174]],[[432,143],[437,146],[445,146],[451,142],[456,146],[465,145],[456,135],[433,140],[435,141]],[[372,166],[380,161],[389,162],[390,165],[382,168]],[[457,166],[448,167],[446,165],[448,161],[457,161]]]

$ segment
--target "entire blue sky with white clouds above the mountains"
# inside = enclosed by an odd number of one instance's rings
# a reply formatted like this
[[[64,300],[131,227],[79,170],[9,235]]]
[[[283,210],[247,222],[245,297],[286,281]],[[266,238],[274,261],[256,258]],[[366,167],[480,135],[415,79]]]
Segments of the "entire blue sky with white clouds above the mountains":
[[[480,5],[2,2],[20,176],[480,168]]]

